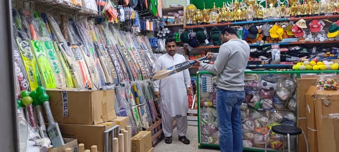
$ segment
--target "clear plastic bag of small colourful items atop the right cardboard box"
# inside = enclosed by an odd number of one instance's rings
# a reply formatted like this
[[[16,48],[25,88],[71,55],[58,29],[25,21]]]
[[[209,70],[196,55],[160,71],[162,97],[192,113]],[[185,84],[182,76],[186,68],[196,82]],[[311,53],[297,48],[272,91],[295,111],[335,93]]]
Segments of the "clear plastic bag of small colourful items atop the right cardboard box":
[[[322,73],[320,78],[315,84],[318,90],[337,90],[339,86],[339,81],[336,77],[336,73]]]

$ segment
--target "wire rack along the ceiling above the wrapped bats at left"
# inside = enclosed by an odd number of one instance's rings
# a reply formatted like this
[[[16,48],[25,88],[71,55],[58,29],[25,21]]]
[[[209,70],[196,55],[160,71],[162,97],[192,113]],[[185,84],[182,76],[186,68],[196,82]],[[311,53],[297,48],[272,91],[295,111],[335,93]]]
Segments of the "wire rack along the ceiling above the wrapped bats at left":
[[[38,9],[37,11],[57,11],[60,13],[65,13],[68,15],[75,16],[98,16],[98,11],[84,8],[79,5],[75,5],[65,0],[54,0],[51,2],[46,2],[43,0],[16,0],[18,2],[30,3],[34,5],[34,8]]]

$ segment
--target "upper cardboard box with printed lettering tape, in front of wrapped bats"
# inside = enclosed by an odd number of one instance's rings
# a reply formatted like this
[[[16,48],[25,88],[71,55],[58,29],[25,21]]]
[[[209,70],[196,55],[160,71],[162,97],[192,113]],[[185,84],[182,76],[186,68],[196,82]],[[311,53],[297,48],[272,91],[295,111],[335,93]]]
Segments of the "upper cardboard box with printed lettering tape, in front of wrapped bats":
[[[116,118],[114,90],[92,91],[64,88],[48,89],[47,93],[50,96],[54,120],[58,123],[91,125]]]

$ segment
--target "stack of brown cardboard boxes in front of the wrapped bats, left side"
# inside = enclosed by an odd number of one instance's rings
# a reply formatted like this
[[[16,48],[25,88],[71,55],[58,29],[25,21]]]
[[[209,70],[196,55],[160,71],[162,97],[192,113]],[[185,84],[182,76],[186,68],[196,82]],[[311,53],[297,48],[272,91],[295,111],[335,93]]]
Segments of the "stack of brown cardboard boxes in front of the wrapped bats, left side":
[[[50,105],[55,121],[64,138],[77,139],[86,149],[98,146],[104,151],[104,131],[120,125],[125,129],[129,117],[118,117],[114,110],[114,90],[91,91],[49,89]],[[114,120],[117,119],[117,120]],[[47,120],[47,119],[45,119]]]

